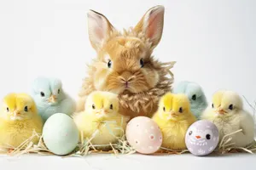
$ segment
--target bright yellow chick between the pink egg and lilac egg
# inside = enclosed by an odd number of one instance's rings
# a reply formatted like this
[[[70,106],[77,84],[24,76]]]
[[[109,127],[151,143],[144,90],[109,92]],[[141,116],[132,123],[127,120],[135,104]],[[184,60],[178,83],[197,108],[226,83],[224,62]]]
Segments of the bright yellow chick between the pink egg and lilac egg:
[[[153,116],[163,134],[162,147],[171,150],[186,149],[185,134],[196,121],[190,111],[189,99],[184,94],[167,93],[160,99],[159,109]]]

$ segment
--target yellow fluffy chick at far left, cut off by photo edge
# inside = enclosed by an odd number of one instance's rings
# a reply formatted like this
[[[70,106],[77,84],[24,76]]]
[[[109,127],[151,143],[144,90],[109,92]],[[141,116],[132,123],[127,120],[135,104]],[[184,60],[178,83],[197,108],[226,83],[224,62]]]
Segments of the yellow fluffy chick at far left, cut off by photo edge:
[[[42,133],[43,122],[36,105],[27,94],[8,94],[0,111],[0,148],[13,149],[32,136]],[[38,139],[33,140],[34,143]]]

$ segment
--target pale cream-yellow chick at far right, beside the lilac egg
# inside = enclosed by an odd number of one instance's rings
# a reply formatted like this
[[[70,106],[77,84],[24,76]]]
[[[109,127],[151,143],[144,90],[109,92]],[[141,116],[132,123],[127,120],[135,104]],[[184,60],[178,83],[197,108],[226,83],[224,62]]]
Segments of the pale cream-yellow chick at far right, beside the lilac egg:
[[[236,146],[244,147],[253,142],[253,116],[243,110],[241,97],[232,91],[218,91],[212,96],[210,105],[201,116],[213,122],[219,131],[219,141],[226,134],[242,129],[242,132],[232,135]]]

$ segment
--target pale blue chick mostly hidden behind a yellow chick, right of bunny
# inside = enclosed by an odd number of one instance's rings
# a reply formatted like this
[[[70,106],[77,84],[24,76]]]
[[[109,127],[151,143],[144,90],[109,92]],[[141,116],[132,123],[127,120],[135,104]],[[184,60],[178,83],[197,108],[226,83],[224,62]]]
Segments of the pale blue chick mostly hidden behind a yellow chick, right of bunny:
[[[201,86],[195,82],[179,82],[172,90],[173,94],[186,94],[189,98],[192,113],[199,118],[207,108],[207,98]]]

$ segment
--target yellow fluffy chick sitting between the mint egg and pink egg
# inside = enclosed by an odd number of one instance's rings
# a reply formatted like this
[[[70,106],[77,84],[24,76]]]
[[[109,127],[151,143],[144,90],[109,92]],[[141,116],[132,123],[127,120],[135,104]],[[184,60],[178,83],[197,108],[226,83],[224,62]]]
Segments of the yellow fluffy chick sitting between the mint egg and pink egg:
[[[117,94],[92,92],[86,99],[85,111],[73,116],[83,139],[92,144],[116,143],[124,134],[127,117],[119,114]]]

